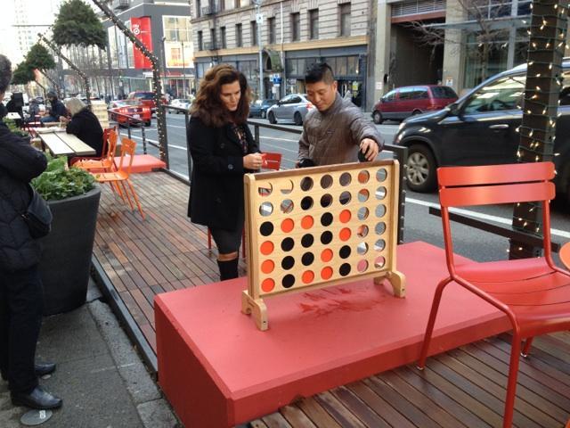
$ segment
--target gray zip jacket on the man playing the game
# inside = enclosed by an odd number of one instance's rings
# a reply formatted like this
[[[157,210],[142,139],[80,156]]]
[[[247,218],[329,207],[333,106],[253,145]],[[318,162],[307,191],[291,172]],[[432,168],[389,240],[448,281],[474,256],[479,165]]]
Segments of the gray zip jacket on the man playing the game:
[[[363,138],[373,139],[382,150],[382,136],[371,120],[364,119],[358,107],[337,94],[327,111],[307,113],[298,159],[310,159],[316,165],[356,162]]]

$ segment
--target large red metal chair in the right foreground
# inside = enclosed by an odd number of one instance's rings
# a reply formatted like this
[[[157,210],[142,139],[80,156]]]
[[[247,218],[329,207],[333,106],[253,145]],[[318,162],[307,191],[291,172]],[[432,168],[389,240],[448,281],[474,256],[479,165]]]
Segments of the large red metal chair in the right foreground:
[[[550,252],[553,177],[551,162],[437,170],[449,276],[437,285],[418,367],[426,365],[437,309],[447,284],[460,284],[503,311],[513,328],[504,428],[513,420],[521,342],[525,340],[522,355],[526,357],[534,336],[570,328],[570,272],[557,268]],[[544,257],[456,265],[449,207],[512,202],[542,203]]]

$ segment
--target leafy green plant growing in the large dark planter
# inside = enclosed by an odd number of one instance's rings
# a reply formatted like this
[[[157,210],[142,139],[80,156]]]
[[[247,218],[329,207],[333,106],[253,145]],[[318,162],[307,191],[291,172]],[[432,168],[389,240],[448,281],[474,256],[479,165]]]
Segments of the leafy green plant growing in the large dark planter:
[[[46,201],[85,194],[94,188],[94,177],[84,169],[67,168],[67,159],[47,157],[47,168],[32,180],[32,185]]]

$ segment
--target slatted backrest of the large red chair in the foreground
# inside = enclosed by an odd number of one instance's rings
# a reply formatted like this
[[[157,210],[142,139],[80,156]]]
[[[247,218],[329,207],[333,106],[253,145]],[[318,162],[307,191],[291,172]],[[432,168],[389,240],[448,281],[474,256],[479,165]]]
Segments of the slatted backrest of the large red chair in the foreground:
[[[443,167],[437,169],[442,207],[550,201],[555,187],[552,162]]]

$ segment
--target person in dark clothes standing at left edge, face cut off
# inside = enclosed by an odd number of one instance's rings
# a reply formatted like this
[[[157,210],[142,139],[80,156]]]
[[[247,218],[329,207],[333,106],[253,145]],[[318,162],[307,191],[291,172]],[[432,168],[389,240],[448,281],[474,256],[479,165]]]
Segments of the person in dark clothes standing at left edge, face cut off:
[[[11,78],[11,63],[0,55],[0,96]],[[4,116],[4,106],[0,110]],[[42,152],[0,121],[0,374],[8,381],[14,405],[39,409],[60,407],[61,399],[37,380],[55,365],[35,362],[44,300],[37,268],[40,246],[21,214],[31,199],[29,181],[46,166]]]

